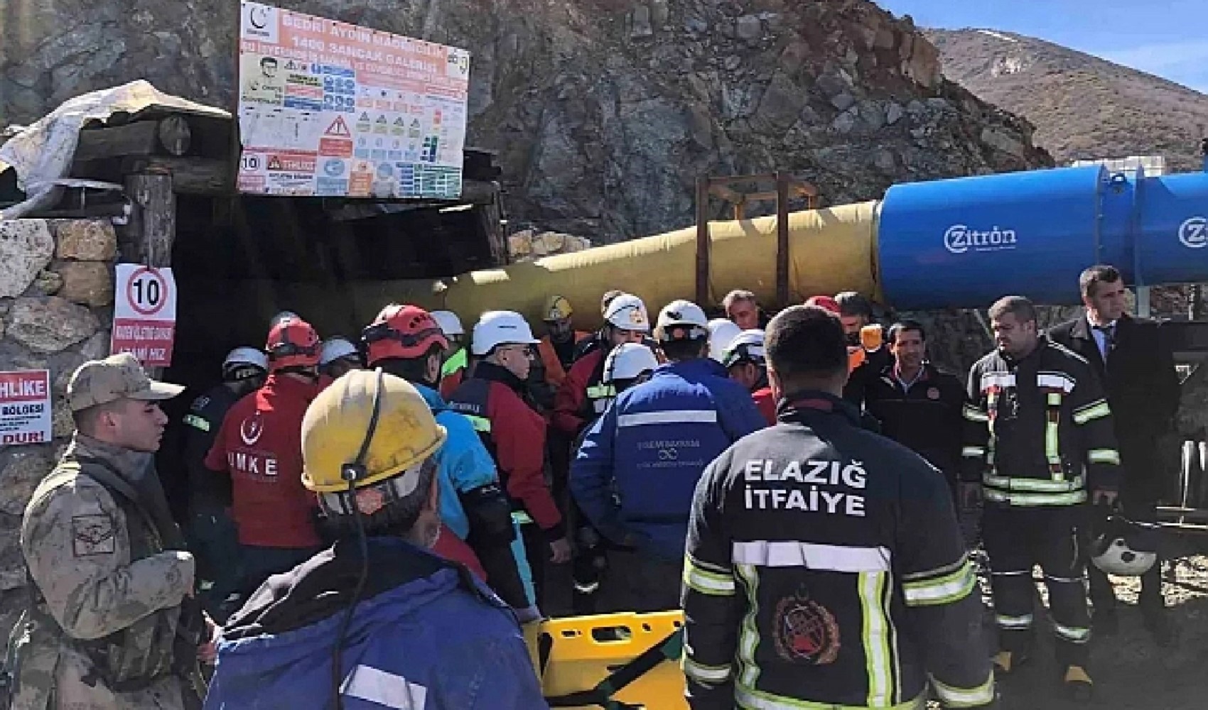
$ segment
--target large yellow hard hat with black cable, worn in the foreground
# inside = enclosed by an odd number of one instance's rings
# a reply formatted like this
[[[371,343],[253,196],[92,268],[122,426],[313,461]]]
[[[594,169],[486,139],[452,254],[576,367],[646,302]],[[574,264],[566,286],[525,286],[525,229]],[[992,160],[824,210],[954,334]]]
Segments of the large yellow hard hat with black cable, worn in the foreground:
[[[411,383],[379,369],[352,371],[315,397],[302,418],[302,485],[315,493],[348,490],[343,473],[350,465],[364,466],[356,488],[400,472],[418,478],[418,465],[446,436]]]

